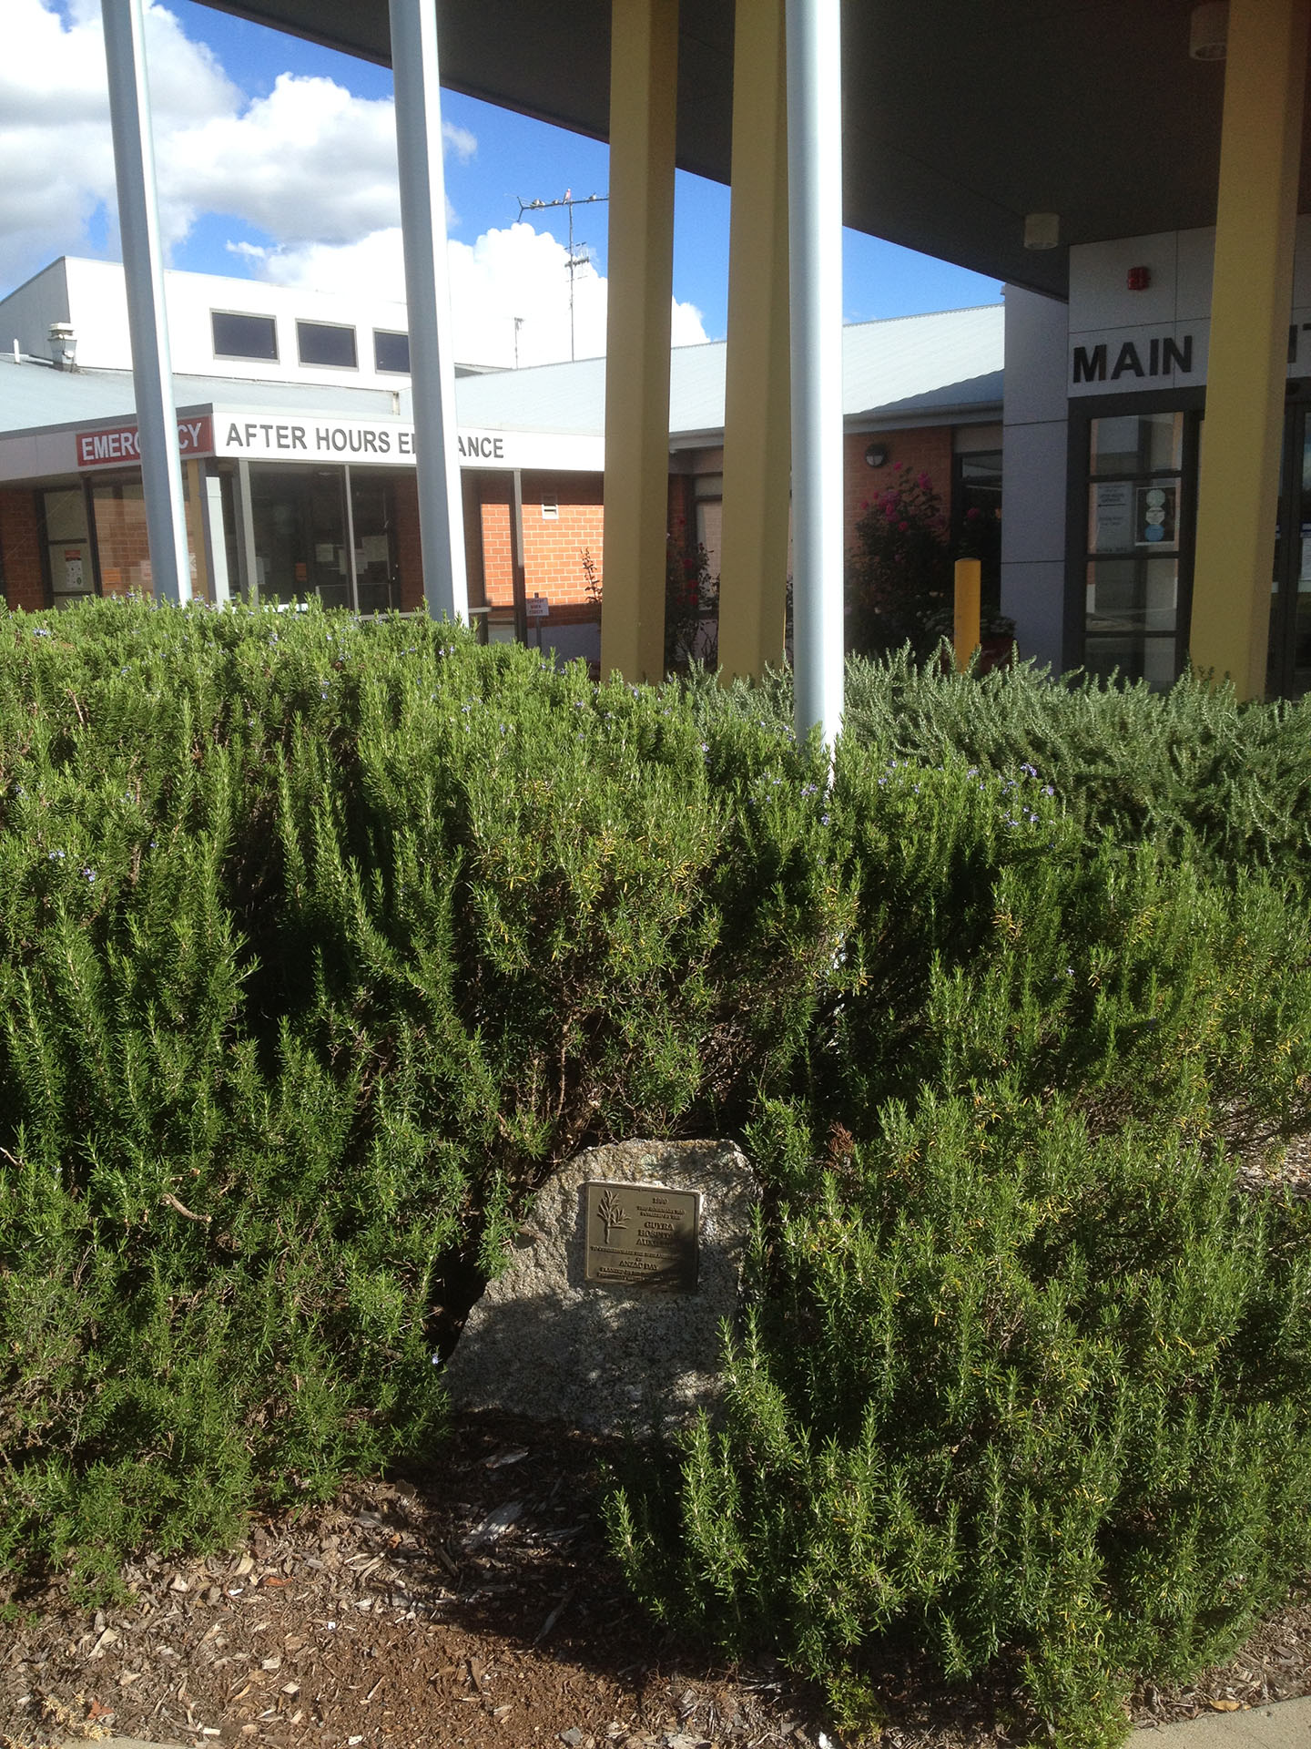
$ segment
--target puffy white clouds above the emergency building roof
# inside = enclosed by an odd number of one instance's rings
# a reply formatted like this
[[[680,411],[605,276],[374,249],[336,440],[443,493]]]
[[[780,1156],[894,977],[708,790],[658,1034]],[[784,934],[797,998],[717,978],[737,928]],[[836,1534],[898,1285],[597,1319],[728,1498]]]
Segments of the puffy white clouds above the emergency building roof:
[[[0,61],[0,285],[59,254],[87,248],[98,206],[112,215],[114,157],[98,0],[3,0]],[[246,98],[205,44],[163,5],[147,9],[161,227],[180,243],[203,213],[273,238],[229,245],[250,271],[281,285],[404,297],[392,103],[357,98],[330,79],[281,73]],[[444,128],[449,156],[477,140]],[[447,212],[447,220],[451,220]],[[451,241],[456,357],[481,364],[568,359],[566,250],[530,224]],[[605,280],[573,282],[575,352],[605,352]],[[676,345],[704,339],[692,304],[673,306]]]

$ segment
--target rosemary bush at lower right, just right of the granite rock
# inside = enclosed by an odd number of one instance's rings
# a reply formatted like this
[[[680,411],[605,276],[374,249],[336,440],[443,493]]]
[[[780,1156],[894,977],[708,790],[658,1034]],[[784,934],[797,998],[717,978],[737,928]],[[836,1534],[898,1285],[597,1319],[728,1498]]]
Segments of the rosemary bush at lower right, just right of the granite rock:
[[[752,1140],[778,1205],[724,1424],[610,1499],[638,1592],[857,1726],[891,1641],[1019,1679],[1021,1735],[1117,1742],[1129,1672],[1224,1655],[1311,1564],[1311,1210],[1014,1086]]]

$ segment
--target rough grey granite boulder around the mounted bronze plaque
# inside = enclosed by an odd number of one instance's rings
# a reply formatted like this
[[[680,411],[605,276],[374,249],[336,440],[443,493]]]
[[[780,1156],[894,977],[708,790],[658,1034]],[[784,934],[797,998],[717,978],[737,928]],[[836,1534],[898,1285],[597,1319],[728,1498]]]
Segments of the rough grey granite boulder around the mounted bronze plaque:
[[[694,1293],[584,1280],[589,1179],[701,1195]],[[538,1191],[505,1272],[470,1312],[446,1364],[451,1401],[638,1434],[713,1406],[757,1202],[731,1142],[633,1140],[577,1154]]]

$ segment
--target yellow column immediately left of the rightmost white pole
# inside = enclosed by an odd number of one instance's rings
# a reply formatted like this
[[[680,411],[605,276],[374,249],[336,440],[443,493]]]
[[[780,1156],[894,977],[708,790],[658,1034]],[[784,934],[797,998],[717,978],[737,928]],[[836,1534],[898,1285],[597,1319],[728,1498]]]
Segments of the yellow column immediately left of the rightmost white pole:
[[[738,0],[720,677],[783,661],[792,472],[783,0]]]

